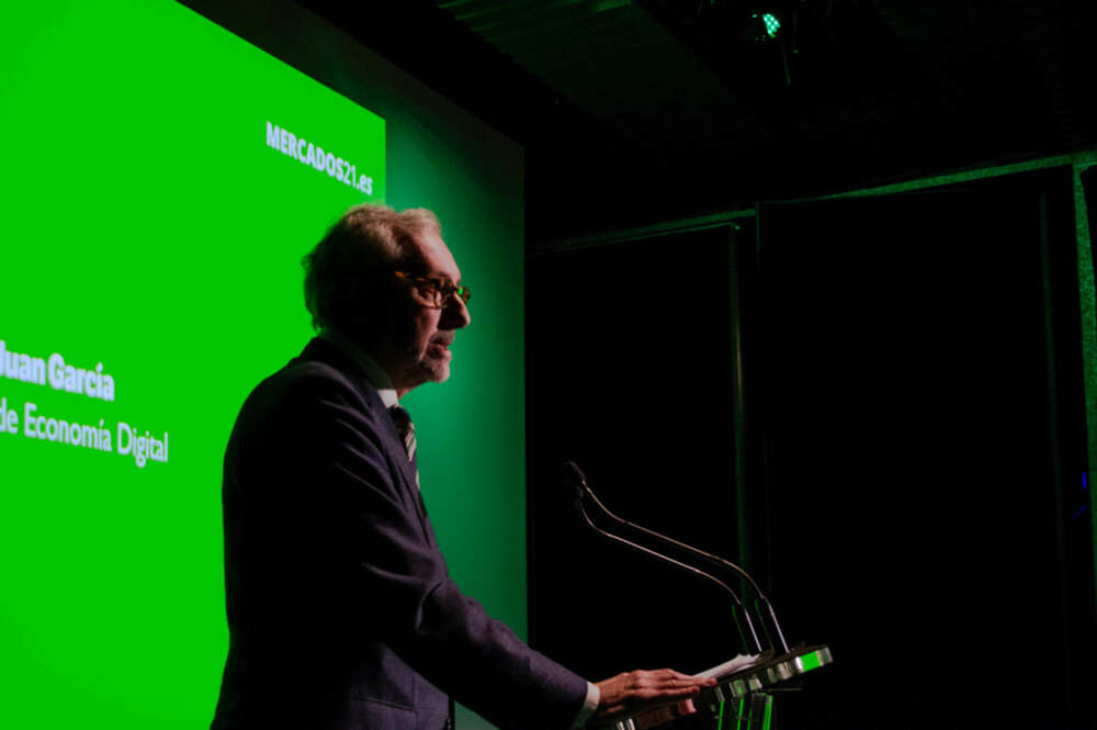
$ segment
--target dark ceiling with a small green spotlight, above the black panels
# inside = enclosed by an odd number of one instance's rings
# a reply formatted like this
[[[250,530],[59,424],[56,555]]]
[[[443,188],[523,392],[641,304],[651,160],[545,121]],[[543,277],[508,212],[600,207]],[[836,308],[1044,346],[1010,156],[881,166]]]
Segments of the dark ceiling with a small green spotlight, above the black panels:
[[[524,146],[534,240],[1097,143],[1093,0],[299,2]]]

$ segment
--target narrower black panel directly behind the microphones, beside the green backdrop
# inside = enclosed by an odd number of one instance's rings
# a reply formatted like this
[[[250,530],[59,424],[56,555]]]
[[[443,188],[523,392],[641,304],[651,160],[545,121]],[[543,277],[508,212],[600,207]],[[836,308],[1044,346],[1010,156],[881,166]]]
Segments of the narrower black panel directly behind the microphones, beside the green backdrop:
[[[592,680],[740,651],[730,598],[595,536],[561,478],[574,460],[622,517],[735,557],[733,237],[723,226],[527,267],[530,633]]]

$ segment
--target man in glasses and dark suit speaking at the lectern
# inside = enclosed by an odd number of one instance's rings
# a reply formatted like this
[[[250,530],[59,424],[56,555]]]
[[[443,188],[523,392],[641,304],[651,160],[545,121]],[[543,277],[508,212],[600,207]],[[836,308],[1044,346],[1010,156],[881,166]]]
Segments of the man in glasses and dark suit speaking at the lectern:
[[[500,728],[568,730],[711,684],[597,685],[450,580],[398,401],[450,374],[468,292],[429,211],[348,211],[305,257],[319,337],[245,403],[225,456],[229,652],[213,727],[440,730],[446,693]]]

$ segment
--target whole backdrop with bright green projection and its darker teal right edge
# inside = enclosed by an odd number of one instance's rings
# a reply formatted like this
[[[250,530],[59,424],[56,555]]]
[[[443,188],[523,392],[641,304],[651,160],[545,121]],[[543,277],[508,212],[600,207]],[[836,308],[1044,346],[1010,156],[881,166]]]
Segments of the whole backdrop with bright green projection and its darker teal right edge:
[[[436,210],[489,310],[407,403],[454,577],[525,629],[521,150],[301,9],[217,4],[7,9],[0,728],[208,726],[225,442],[363,201]]]

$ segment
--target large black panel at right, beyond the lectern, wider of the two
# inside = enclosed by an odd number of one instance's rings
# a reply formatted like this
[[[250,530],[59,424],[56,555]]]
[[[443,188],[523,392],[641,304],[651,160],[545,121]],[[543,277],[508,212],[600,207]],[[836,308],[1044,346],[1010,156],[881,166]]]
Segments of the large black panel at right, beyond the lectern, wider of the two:
[[[1063,168],[762,210],[773,591],[836,661],[780,727],[1093,723],[1072,201]]]

